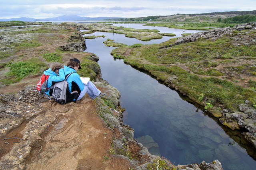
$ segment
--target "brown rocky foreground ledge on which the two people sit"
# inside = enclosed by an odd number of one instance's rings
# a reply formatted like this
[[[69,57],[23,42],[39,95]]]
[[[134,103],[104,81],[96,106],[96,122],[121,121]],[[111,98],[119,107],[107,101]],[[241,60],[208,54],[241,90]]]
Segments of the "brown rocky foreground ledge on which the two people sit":
[[[94,83],[107,93],[105,97],[84,97],[65,105],[39,95],[31,85],[14,95],[0,94],[0,169],[147,169],[158,156],[151,155],[134,139],[134,129],[123,125],[119,91],[106,82]],[[106,101],[114,108],[105,105]],[[93,117],[103,124],[91,130],[96,124],[90,120]],[[95,158],[94,152],[101,156]],[[222,170],[218,160],[177,168]]]

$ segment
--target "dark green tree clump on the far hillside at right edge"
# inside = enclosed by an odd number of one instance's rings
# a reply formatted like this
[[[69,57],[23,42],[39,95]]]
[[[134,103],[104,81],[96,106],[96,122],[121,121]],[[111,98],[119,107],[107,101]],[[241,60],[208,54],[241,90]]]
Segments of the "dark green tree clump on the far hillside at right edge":
[[[219,18],[217,20],[218,22],[222,22],[224,24],[243,24],[248,22],[256,22],[256,15],[240,15],[240,16],[234,16],[234,17],[228,17],[224,20],[221,20]]]

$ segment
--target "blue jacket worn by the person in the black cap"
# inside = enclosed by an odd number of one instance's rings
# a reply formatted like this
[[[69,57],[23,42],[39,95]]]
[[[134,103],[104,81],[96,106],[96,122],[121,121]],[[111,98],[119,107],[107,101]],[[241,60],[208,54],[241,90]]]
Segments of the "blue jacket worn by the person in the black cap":
[[[72,73],[72,72],[75,72],[75,73]],[[73,69],[72,67],[68,67],[64,65],[64,73],[65,73],[65,76],[68,75],[69,73],[72,73],[69,75],[67,79],[69,91],[72,92],[74,90],[77,90],[78,93],[80,94],[80,92],[84,90],[84,84],[82,83],[78,73],[76,73],[76,70]],[[80,91],[75,86],[78,86]]]

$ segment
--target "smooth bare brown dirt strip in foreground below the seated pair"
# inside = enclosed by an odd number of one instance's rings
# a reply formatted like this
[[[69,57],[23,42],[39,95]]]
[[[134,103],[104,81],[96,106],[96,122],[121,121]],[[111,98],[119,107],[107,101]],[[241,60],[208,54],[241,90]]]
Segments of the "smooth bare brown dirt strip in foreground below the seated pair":
[[[86,97],[44,134],[26,160],[27,169],[128,169],[129,162],[109,154],[115,134],[97,117],[93,100]],[[62,107],[52,103],[55,109]],[[83,106],[83,108],[81,108]],[[81,112],[83,109],[86,112]],[[109,159],[104,159],[108,156]]]

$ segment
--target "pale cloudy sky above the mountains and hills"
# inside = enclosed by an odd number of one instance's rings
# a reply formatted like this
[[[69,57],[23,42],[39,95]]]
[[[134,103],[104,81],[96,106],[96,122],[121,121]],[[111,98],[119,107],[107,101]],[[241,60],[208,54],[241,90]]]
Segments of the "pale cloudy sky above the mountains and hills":
[[[137,18],[256,10],[256,0],[0,0],[2,18]]]

